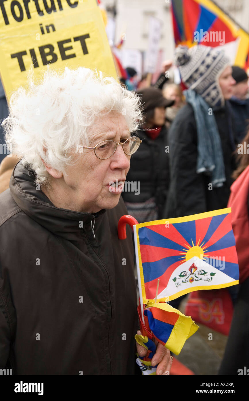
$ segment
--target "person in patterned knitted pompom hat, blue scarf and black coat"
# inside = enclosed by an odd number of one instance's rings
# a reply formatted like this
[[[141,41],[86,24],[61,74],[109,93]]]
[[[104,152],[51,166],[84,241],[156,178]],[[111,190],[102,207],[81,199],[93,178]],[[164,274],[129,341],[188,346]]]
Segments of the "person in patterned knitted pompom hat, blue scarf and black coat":
[[[215,48],[178,46],[174,64],[188,89],[169,130],[167,219],[225,208],[235,169],[229,59]]]

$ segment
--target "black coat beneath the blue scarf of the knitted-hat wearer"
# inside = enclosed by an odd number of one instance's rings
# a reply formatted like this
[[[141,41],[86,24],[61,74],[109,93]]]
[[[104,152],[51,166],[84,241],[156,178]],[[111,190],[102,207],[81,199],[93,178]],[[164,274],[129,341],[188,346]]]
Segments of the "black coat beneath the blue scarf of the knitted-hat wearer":
[[[235,169],[235,149],[231,115],[227,106],[213,109],[221,138],[226,182],[211,186],[210,176],[196,173],[197,130],[192,106],[188,103],[175,117],[169,130],[170,185],[163,218],[182,217],[227,207],[231,174]],[[203,127],[205,129],[205,127]]]

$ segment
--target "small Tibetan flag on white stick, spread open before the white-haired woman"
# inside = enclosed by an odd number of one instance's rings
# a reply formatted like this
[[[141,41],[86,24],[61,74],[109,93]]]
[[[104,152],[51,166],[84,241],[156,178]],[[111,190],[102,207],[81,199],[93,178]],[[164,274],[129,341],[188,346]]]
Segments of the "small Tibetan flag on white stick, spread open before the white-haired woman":
[[[143,304],[239,283],[231,208],[133,228]]]

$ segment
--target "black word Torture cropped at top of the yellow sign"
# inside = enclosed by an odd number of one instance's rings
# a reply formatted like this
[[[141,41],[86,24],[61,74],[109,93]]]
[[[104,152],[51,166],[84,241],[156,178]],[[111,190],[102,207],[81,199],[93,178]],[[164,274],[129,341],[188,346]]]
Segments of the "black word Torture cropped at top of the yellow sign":
[[[5,2],[7,2],[7,3],[5,3]],[[56,12],[56,11],[63,10],[61,0],[57,0],[57,4],[55,4],[54,0],[50,0],[50,4],[51,4],[50,7],[48,6],[47,0],[43,0],[44,8],[41,6],[42,2],[40,1],[40,3],[39,3],[39,0],[31,0],[31,2],[30,2],[30,0],[23,0],[22,2],[23,2],[23,6],[17,0],[13,0],[11,2],[9,0],[0,0],[0,8],[2,11],[2,16],[4,17],[5,25],[10,24],[10,21],[8,18],[9,10],[10,10],[13,18],[17,22],[22,22],[22,20],[24,18],[24,12],[28,19],[32,18],[32,11],[30,13],[29,5],[31,5],[31,7],[32,7],[33,2],[36,6],[37,14],[40,16],[44,16],[44,11],[46,11],[47,14],[51,14],[52,11]],[[66,0],[66,2],[68,3],[68,6],[71,8],[78,6],[78,1]]]

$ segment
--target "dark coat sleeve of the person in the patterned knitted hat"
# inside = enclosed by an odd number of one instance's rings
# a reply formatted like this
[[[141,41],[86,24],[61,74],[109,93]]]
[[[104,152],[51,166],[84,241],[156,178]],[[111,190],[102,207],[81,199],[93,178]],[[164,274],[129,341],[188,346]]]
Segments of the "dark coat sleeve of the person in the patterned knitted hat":
[[[196,173],[197,132],[193,109],[184,106],[169,130],[170,184],[165,218],[207,210],[202,174]]]

